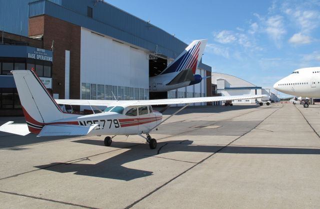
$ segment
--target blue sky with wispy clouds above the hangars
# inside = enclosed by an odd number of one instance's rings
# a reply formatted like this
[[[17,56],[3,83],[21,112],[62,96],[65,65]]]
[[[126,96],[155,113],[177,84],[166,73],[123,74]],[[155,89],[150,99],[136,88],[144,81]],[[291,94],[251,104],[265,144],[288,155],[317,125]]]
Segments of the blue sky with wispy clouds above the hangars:
[[[212,72],[257,86],[320,66],[320,0],[105,1],[185,43],[208,39],[202,61]]]

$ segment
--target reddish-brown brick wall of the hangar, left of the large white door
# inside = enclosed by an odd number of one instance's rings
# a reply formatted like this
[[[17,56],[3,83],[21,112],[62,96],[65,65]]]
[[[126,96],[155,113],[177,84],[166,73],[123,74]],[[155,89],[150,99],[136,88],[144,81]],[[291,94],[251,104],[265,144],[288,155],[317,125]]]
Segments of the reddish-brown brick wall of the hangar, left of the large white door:
[[[65,50],[69,50],[70,99],[80,99],[80,26],[48,15],[30,17],[29,36],[41,33],[44,48],[51,48],[52,40],[54,40],[52,92],[59,94],[59,99],[64,99]]]

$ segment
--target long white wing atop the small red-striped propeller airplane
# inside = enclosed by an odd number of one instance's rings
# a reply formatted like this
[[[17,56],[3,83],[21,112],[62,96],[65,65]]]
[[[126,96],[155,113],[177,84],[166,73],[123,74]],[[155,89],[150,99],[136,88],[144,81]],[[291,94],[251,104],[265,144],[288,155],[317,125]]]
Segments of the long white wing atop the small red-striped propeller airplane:
[[[179,99],[154,99],[154,100],[82,100],[82,99],[56,99],[58,104],[68,105],[90,105],[90,106],[110,106],[116,103],[126,103],[130,106],[134,105],[170,105],[170,104],[190,104],[198,102],[216,102],[224,100],[238,99],[255,99],[267,97],[268,95],[238,95],[238,96],[216,96],[216,97],[194,97],[194,98],[179,98]]]

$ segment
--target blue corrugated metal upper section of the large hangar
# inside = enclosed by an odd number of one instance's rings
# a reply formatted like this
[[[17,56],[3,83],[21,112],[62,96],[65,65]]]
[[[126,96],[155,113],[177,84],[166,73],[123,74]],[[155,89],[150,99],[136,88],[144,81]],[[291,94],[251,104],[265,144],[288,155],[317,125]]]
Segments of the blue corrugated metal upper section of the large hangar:
[[[92,8],[92,17],[87,14]],[[175,58],[187,46],[172,34],[101,0],[0,1],[0,29],[27,36],[28,17],[47,14],[149,51]],[[19,25],[17,27],[17,25]],[[205,37],[203,37],[205,38]],[[211,71],[203,63],[199,68]]]

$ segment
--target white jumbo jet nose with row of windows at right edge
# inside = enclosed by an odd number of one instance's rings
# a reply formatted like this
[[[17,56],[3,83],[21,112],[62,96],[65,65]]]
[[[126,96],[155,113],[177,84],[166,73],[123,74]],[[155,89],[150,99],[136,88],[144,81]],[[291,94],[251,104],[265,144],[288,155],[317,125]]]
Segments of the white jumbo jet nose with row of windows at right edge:
[[[320,97],[320,67],[294,70],[273,85],[275,90],[300,97]],[[303,107],[308,107],[307,103]]]

